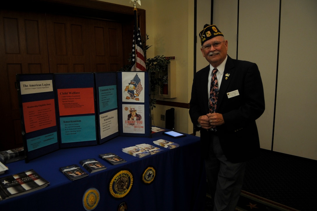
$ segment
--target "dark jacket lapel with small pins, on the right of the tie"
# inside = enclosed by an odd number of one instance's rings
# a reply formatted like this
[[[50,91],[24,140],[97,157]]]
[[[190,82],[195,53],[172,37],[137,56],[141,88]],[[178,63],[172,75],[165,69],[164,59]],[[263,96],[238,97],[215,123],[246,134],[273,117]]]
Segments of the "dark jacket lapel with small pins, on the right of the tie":
[[[217,101],[217,108],[220,107],[222,100],[224,99],[224,97],[227,96],[227,89],[228,86],[230,84],[231,79],[234,76],[234,64],[232,62],[232,59],[228,56],[226,65],[224,67],[224,72],[223,72],[223,78],[221,81],[221,86],[219,89],[219,93],[218,93],[218,101]]]

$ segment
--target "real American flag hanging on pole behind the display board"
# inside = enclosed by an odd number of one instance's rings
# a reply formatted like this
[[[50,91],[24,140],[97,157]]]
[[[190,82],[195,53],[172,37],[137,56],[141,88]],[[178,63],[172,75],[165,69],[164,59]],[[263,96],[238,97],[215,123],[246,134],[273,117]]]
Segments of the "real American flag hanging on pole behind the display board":
[[[134,32],[131,65],[131,71],[146,71],[146,64],[142,48],[140,28],[138,27],[138,16],[136,8],[134,9]]]

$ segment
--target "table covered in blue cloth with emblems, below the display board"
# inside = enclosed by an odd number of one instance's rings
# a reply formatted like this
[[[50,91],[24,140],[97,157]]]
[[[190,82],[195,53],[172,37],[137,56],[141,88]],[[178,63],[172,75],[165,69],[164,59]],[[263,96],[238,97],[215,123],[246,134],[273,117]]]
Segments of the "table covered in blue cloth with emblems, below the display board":
[[[136,144],[153,144],[153,140],[165,139],[178,143],[180,147],[164,149],[154,155],[136,158],[121,151]],[[127,162],[111,165],[99,154],[112,152]],[[78,164],[83,159],[96,158],[107,169],[88,173],[87,177],[71,181],[59,168]],[[0,201],[0,210],[86,210],[83,196],[88,189],[99,191],[100,201],[94,210],[118,210],[122,202],[127,210],[203,210],[206,177],[200,155],[199,137],[186,134],[171,138],[162,132],[153,133],[151,138],[116,137],[104,144],[60,149],[25,163],[24,160],[7,164],[9,170],[0,177],[34,169],[50,182],[49,186],[34,192]],[[146,168],[155,169],[152,183],[142,181]],[[133,175],[130,192],[123,198],[114,198],[109,191],[110,181],[120,170],[129,170]]]

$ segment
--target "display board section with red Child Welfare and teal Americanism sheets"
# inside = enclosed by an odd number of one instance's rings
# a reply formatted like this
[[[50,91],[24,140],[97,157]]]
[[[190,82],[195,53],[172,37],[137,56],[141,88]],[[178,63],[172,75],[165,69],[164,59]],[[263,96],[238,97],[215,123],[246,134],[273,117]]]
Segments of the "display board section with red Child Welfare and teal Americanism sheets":
[[[60,147],[96,145],[94,73],[54,76]]]

